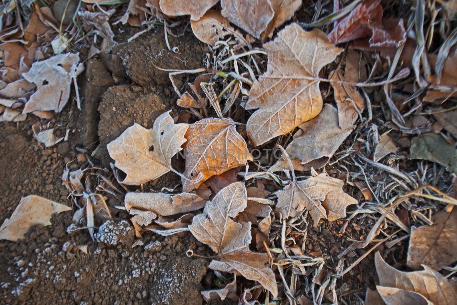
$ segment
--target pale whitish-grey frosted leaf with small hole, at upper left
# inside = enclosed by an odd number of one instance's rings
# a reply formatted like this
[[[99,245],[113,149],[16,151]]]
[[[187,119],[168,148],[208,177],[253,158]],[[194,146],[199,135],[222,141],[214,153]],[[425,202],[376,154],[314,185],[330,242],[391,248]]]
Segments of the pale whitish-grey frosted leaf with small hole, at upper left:
[[[79,60],[78,53],[67,53],[33,63],[22,75],[37,86],[37,91],[26,103],[23,113],[62,111],[70,96],[71,82],[84,70],[84,64],[78,64]]]

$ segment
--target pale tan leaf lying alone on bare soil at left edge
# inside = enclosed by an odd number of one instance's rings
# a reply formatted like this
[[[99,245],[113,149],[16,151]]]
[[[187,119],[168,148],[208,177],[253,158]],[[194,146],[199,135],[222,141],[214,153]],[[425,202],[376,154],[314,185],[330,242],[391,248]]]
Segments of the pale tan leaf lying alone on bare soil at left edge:
[[[21,199],[10,218],[0,227],[0,240],[17,241],[34,225],[52,225],[49,221],[54,213],[71,211],[66,205],[43,197],[29,195]]]

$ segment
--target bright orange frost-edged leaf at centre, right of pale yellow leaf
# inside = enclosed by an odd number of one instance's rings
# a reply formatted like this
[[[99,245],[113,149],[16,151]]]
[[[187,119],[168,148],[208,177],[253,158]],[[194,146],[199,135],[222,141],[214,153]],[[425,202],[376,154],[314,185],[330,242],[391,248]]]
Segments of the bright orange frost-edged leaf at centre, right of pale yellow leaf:
[[[193,123],[186,139],[184,176],[196,179],[202,175],[202,179],[190,182],[181,177],[184,192],[197,188],[211,176],[220,175],[252,160],[246,142],[230,118],[205,118]]]

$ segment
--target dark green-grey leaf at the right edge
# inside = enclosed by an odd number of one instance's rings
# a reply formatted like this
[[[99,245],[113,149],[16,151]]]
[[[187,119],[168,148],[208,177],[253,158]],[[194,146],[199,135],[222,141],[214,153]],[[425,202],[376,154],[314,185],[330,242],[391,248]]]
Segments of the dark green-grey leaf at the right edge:
[[[457,174],[457,151],[439,134],[421,134],[411,140],[409,159],[425,159]]]

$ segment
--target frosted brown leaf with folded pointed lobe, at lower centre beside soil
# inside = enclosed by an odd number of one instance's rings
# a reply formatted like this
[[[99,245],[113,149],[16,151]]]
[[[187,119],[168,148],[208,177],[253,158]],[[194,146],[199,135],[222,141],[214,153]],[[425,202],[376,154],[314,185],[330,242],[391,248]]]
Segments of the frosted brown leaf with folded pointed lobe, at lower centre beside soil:
[[[208,245],[218,254],[220,261],[213,260],[209,268],[223,272],[237,271],[245,278],[256,280],[277,296],[273,271],[265,267],[266,254],[248,249],[251,242],[251,223],[237,223],[233,218],[247,205],[246,187],[235,182],[224,187],[205,206],[204,213],[194,216],[189,226],[198,241]]]

